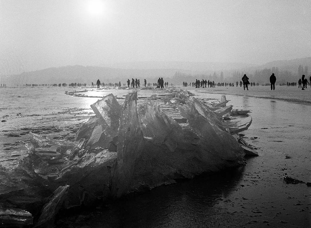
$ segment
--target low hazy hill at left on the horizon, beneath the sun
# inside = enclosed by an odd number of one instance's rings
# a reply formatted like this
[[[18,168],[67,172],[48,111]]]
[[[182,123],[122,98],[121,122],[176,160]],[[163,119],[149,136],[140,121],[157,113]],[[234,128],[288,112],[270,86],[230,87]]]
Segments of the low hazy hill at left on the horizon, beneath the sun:
[[[171,77],[173,69],[116,69],[99,66],[62,66],[52,67],[40,71],[24,72],[20,75],[5,76],[1,81],[6,84],[59,84],[59,83],[86,83],[90,85],[99,79],[104,83],[125,83],[127,79],[148,78],[157,81],[159,77]]]

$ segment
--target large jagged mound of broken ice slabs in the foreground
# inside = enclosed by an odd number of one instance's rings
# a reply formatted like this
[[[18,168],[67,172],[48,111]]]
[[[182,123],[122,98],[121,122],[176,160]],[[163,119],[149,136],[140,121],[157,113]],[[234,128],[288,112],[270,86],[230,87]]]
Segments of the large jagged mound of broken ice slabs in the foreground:
[[[35,217],[27,215],[24,225],[45,226],[59,210],[238,166],[245,152],[258,155],[234,135],[251,117],[225,121],[232,109],[225,98],[211,105],[189,95],[173,90],[137,103],[136,90],[120,105],[109,94],[91,105],[95,116],[74,143],[30,133],[29,156],[13,170],[0,166],[0,208],[26,210]]]

